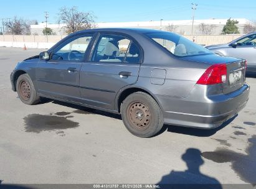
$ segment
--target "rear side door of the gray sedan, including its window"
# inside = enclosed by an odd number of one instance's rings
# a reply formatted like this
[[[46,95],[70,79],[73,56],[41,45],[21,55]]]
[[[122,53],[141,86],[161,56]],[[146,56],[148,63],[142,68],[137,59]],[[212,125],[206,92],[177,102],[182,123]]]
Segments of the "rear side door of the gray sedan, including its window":
[[[138,80],[142,51],[123,34],[99,34],[92,55],[80,70],[83,103],[114,109],[121,88]]]

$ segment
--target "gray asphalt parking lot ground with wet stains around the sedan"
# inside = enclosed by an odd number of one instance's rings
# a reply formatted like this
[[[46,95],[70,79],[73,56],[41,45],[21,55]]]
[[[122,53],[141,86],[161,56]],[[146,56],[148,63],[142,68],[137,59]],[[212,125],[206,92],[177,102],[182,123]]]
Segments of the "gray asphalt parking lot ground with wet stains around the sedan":
[[[16,63],[39,49],[0,47],[2,183],[256,183],[256,77],[249,103],[217,129],[164,126],[142,139],[120,116],[11,90]]]

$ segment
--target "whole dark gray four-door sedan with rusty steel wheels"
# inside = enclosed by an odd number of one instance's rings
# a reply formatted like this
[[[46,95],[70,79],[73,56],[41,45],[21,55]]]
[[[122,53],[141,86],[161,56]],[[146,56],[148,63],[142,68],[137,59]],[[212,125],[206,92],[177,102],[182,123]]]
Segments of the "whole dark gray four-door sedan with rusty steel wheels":
[[[211,129],[235,116],[249,98],[245,66],[170,32],[92,29],[18,63],[11,84],[25,104],[121,114],[128,131],[151,137],[163,124]]]

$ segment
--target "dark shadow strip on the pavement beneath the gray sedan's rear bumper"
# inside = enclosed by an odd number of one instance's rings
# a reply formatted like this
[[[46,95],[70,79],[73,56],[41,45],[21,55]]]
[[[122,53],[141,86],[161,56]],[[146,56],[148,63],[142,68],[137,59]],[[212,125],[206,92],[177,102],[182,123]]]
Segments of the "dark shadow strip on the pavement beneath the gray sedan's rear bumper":
[[[171,125],[164,124],[163,128],[161,129],[161,131],[159,131],[157,135],[167,131],[167,132],[175,132],[178,134],[185,134],[190,136],[209,137],[216,134],[216,132],[218,132],[220,129],[223,129],[225,126],[230,124],[230,122],[232,122],[237,116],[238,114],[236,114],[232,118],[225,121],[221,126],[216,127],[214,129],[196,129],[191,127],[171,126]]]

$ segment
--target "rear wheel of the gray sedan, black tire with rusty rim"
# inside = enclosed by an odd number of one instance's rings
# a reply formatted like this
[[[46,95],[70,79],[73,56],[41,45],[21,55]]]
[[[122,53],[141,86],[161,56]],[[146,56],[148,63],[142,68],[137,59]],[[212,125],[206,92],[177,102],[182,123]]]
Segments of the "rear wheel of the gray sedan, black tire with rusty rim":
[[[136,92],[121,104],[123,123],[131,134],[147,138],[156,135],[164,124],[158,103],[147,93]]]

